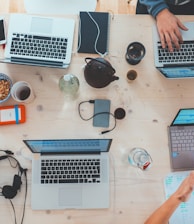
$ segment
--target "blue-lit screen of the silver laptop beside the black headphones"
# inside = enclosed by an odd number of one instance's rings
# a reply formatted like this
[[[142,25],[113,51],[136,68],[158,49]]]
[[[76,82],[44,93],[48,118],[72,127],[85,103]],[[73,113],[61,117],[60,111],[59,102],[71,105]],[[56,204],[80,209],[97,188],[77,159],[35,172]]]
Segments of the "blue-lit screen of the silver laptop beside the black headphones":
[[[33,153],[108,152],[112,139],[23,140]]]

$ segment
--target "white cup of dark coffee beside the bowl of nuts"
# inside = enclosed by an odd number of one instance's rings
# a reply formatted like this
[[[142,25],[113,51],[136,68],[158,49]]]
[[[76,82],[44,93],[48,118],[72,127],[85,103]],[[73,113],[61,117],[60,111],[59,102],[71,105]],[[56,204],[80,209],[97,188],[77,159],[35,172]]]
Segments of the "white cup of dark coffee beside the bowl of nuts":
[[[31,85],[25,81],[18,81],[13,84],[11,96],[19,103],[30,103],[35,98]]]

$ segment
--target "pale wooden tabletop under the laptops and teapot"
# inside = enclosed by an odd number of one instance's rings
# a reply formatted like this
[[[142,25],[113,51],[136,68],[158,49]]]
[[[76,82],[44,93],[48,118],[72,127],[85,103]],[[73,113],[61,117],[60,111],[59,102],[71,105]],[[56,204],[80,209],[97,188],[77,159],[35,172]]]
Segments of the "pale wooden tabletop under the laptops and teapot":
[[[184,21],[193,16],[180,17]],[[75,17],[77,20],[77,18]],[[78,21],[77,21],[78,22]],[[77,23],[78,24],[78,23]],[[154,67],[152,25],[150,16],[115,15],[110,23],[109,54],[106,59],[116,70],[118,81],[105,88],[89,86],[83,75],[84,58],[98,55],[78,54],[77,26],[74,38],[72,62],[68,69],[0,63],[0,72],[9,75],[13,82],[29,82],[36,94],[32,103],[26,104],[27,121],[21,125],[1,126],[0,149],[12,150],[23,167],[28,168],[28,194],[24,223],[46,224],[142,224],[146,217],[164,200],[164,177],[171,172],[167,126],[180,108],[194,107],[194,80],[168,80]],[[146,48],[143,60],[135,66],[125,61],[129,43],[139,41]],[[138,77],[132,83],[126,74],[134,69]],[[58,88],[59,78],[72,73],[79,78],[79,96],[67,100]],[[83,121],[78,115],[78,104],[90,99],[110,99],[111,112],[118,107],[126,111],[126,117],[117,121],[115,130],[100,135],[104,129],[94,128],[92,121]],[[10,99],[3,105],[13,105]],[[86,104],[83,112],[92,113]],[[112,124],[112,122],[111,122]],[[112,138],[110,149],[110,199],[111,206],[103,210],[33,211],[31,197],[31,153],[23,139],[40,138]],[[145,148],[153,159],[152,167],[142,171],[128,163],[128,152],[133,147]],[[3,155],[3,153],[1,153]],[[8,161],[0,163],[0,186],[12,184],[16,169]],[[13,199],[18,223],[20,223],[25,192]],[[0,198],[0,223],[14,223],[10,202]]]

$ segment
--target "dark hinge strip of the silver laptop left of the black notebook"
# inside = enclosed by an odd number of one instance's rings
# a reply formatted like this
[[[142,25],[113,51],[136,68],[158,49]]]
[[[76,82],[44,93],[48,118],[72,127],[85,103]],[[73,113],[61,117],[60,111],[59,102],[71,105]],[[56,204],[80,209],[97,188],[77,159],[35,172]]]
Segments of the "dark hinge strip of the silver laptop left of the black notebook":
[[[63,67],[63,62],[38,60],[38,59],[27,59],[27,58],[16,58],[11,57],[11,62],[28,65],[40,65],[40,66],[52,66],[52,67]]]

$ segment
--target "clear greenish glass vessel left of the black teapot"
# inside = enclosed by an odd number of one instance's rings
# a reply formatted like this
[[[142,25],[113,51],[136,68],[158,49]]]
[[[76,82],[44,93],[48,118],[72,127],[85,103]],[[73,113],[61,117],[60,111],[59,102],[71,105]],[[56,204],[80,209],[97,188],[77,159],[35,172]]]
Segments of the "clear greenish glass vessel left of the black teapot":
[[[75,75],[66,74],[59,79],[59,89],[65,96],[75,98],[79,90],[79,80]]]

